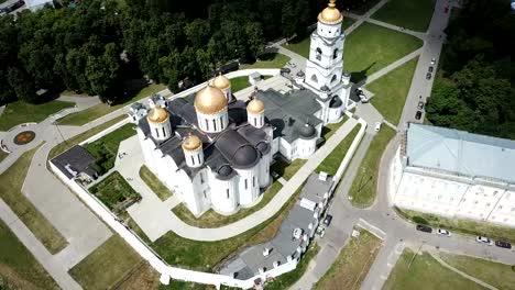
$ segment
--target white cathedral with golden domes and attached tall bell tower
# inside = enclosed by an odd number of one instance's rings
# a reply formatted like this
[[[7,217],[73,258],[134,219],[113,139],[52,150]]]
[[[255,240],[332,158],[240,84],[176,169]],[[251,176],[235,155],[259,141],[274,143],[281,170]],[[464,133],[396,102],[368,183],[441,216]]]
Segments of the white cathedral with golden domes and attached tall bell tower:
[[[274,157],[309,158],[321,127],[341,120],[351,88],[342,20],[330,0],[311,34],[306,72],[295,79],[298,89],[256,90],[244,102],[219,75],[194,96],[156,96],[149,109],[131,108],[146,166],[191,213],[232,214],[256,204],[271,183]]]

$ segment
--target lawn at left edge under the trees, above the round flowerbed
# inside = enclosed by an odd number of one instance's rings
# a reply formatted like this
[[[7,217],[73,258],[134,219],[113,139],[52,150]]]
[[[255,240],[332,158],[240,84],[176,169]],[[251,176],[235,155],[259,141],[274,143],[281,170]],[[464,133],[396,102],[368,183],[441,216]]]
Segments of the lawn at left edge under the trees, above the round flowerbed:
[[[64,102],[58,100],[53,100],[42,104],[30,104],[22,101],[8,103],[6,110],[0,115],[0,131],[8,131],[9,129],[22,123],[39,123],[45,120],[48,115],[74,105],[74,102]]]

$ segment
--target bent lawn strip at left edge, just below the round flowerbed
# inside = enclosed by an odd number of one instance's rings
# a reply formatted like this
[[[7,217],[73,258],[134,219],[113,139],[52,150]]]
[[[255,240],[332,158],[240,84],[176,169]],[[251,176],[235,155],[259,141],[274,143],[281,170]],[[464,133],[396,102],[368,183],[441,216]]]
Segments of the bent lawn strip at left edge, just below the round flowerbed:
[[[32,157],[40,147],[41,145],[32,150],[25,152],[11,167],[0,175],[0,198],[20,217],[26,227],[31,230],[37,239],[41,241],[48,252],[56,254],[66,247],[68,242],[66,242],[61,233],[21,192]]]

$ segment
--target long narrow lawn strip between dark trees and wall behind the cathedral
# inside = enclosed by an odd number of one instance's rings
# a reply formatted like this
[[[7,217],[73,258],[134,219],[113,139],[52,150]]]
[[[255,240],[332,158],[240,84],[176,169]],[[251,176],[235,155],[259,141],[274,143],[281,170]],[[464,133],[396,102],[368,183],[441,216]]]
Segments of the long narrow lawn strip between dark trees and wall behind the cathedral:
[[[152,96],[152,93],[158,92],[166,89],[165,85],[161,83],[153,83],[150,85],[149,87],[142,89],[138,94],[135,94],[132,99],[125,101],[124,103],[117,104],[117,105],[109,105],[107,103],[99,103],[97,105],[94,105],[91,108],[88,108],[84,111],[73,113],[65,115],[61,118],[58,123],[61,125],[76,125],[80,126],[84,125],[90,121],[94,121],[95,119],[98,119],[105,114],[108,114],[110,112],[113,112],[129,103],[135,102],[138,100],[141,100],[143,98]]]

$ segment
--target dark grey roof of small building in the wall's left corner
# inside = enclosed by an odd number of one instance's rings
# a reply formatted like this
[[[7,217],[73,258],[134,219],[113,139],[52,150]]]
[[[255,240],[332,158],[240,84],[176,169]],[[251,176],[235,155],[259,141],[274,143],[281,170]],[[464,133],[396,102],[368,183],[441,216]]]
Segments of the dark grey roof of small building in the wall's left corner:
[[[67,177],[73,178],[74,175],[66,169],[68,166],[72,170],[77,174],[85,172],[94,177],[97,172],[90,168],[91,164],[95,163],[95,157],[83,146],[75,145],[70,149],[62,153],[52,163],[59,168],[59,170]]]

